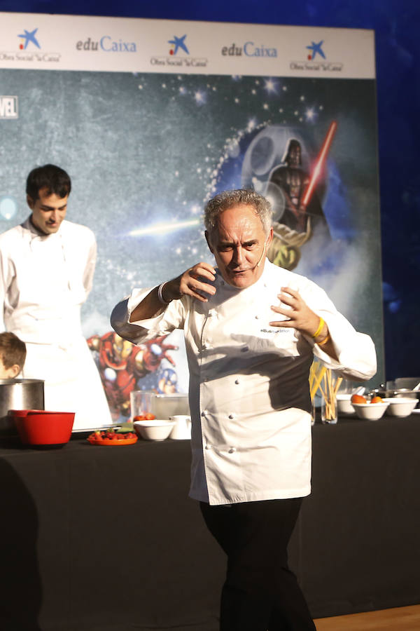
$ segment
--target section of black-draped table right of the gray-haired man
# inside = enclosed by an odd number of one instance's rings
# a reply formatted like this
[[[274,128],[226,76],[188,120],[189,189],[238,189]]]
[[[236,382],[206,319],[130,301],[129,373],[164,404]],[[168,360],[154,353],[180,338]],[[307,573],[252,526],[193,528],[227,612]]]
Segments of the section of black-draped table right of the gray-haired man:
[[[420,415],[314,426],[290,542],[314,617],[420,603]]]

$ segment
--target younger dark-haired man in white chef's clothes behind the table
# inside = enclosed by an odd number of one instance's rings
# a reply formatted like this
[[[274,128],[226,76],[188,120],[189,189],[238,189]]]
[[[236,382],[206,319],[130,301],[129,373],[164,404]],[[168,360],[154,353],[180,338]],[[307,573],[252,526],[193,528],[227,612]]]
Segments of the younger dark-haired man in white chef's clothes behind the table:
[[[97,246],[67,222],[69,175],[55,165],[27,177],[30,217],[0,235],[0,301],[6,330],[27,346],[22,376],[45,381],[45,409],[76,412],[73,428],[111,425],[80,308],[92,288]]]

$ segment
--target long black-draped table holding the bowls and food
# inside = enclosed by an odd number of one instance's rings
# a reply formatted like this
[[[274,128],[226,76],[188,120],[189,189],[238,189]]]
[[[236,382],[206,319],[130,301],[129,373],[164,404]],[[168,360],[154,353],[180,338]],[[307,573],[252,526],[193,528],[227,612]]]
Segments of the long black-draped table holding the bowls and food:
[[[420,602],[420,415],[313,428],[290,542],[314,617]],[[217,631],[223,552],[189,441],[0,442],[1,631]]]

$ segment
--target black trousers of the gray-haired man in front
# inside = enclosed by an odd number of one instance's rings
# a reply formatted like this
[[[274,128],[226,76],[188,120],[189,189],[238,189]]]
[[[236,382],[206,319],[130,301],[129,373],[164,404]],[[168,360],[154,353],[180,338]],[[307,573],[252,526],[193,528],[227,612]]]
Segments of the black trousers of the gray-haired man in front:
[[[302,498],[200,503],[209,531],[228,555],[221,631],[315,631],[287,562],[301,503]]]

